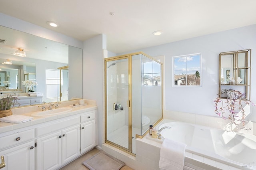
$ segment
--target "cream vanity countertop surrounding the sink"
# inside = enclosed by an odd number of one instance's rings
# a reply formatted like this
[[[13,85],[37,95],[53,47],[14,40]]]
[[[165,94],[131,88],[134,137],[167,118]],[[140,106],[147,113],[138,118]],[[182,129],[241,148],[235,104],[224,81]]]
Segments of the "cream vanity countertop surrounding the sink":
[[[60,107],[60,108],[64,108],[64,107]],[[60,119],[60,118],[63,118],[63,117],[68,117],[70,115],[76,115],[76,114],[79,114],[79,113],[92,111],[92,110],[97,109],[98,107],[96,105],[88,104],[88,105],[83,105],[83,106],[80,106],[80,107],[65,106],[65,108],[67,108],[67,109],[71,108],[71,111],[66,112],[66,113],[61,113],[61,114],[58,114],[58,115],[49,115],[49,116],[42,116],[42,117],[41,116],[40,117],[39,116],[36,116],[36,117],[32,116],[32,114],[34,114],[36,112],[39,112],[39,111],[29,112],[29,113],[24,113],[24,114],[21,114],[21,115],[33,117],[33,119],[31,121],[24,122],[24,123],[0,122],[0,136],[1,136],[1,133],[3,133],[3,132],[8,132],[8,131],[15,130],[15,129],[18,129],[18,128],[29,127],[29,126],[32,126],[32,125],[37,125],[37,124],[40,124],[40,123]]]

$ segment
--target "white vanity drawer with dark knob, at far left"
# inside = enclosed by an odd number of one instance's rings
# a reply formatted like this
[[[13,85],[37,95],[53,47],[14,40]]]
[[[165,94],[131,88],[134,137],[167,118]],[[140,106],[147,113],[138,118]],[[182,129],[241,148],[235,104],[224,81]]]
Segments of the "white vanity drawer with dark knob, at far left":
[[[0,138],[0,149],[8,147],[14,144],[21,144],[27,140],[33,139],[35,137],[34,129],[26,130],[23,132],[18,132],[15,134],[10,134]]]

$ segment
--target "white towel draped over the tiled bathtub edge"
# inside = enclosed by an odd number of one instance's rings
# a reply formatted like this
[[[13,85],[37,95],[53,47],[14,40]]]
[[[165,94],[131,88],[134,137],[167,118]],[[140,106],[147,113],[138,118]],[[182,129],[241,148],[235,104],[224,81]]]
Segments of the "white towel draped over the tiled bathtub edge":
[[[160,170],[183,170],[186,144],[164,139],[160,149]]]

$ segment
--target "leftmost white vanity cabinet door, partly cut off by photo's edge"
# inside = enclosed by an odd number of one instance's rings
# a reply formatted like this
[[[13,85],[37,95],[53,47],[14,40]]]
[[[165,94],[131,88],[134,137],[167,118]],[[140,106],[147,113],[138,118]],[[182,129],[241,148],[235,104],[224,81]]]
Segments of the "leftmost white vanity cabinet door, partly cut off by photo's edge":
[[[6,166],[2,170],[33,170],[35,167],[34,141],[0,152]]]

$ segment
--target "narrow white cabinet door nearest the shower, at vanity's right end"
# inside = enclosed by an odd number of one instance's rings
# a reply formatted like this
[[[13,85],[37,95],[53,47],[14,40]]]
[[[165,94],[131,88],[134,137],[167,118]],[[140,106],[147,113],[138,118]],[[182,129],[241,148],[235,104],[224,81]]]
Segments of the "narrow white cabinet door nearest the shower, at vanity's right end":
[[[81,153],[95,146],[95,121],[81,124]]]

